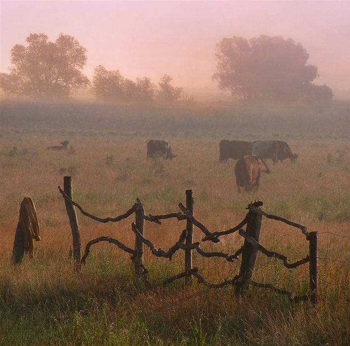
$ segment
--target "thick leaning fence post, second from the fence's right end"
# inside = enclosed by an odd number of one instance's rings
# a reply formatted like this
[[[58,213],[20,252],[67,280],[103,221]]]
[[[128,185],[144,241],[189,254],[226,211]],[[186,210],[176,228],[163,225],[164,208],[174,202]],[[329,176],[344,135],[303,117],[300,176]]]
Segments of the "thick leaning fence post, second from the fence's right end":
[[[258,201],[253,203],[254,207],[262,206],[262,202]],[[262,215],[258,213],[254,213],[252,210],[248,212],[248,222],[246,232],[252,238],[254,238],[257,242],[259,242],[260,237],[260,229],[262,226]],[[247,240],[244,241],[243,244],[243,253],[242,253],[242,261],[241,268],[239,270],[238,277],[243,280],[251,280],[253,276],[253,270],[255,265],[255,260],[257,259],[258,249],[251,245]],[[249,288],[249,284],[242,283],[238,284],[236,287],[236,294],[241,293],[242,291],[247,291]]]

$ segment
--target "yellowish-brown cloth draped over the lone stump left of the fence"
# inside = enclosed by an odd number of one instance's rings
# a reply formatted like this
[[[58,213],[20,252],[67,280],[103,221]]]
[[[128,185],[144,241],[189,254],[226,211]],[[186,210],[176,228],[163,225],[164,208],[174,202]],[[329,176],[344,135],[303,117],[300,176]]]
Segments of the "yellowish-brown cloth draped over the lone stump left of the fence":
[[[19,222],[24,233],[24,250],[34,257],[34,241],[40,241],[37,210],[30,197],[24,197],[19,210]]]

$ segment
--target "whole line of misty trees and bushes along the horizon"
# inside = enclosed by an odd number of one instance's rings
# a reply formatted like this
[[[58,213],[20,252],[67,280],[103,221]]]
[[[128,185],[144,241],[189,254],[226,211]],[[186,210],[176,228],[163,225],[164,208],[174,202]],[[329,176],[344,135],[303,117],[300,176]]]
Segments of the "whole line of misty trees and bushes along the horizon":
[[[83,74],[87,49],[74,37],[60,34],[54,42],[45,34],[30,34],[27,45],[16,44],[10,51],[12,67],[0,74],[6,95],[33,99],[69,98],[78,89],[90,88],[96,99],[108,102],[166,102],[180,99],[183,88],[172,86],[164,75],[156,85],[148,77],[136,81],[119,70],[95,67],[92,80]],[[217,44],[217,72],[213,80],[219,89],[245,103],[332,101],[332,89],[313,83],[318,75],[306,65],[308,54],[301,43],[262,35],[247,40],[224,38]]]

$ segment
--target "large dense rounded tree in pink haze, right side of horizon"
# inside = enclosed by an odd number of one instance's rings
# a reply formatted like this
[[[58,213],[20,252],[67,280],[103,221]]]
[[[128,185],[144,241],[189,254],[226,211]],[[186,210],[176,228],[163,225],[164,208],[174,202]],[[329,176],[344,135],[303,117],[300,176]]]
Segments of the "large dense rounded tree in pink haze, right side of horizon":
[[[217,44],[213,80],[219,82],[221,90],[245,101],[306,100],[310,90],[333,96],[329,87],[311,83],[318,73],[316,66],[306,65],[308,57],[301,43],[281,36],[262,35],[249,41],[237,36],[225,38]]]

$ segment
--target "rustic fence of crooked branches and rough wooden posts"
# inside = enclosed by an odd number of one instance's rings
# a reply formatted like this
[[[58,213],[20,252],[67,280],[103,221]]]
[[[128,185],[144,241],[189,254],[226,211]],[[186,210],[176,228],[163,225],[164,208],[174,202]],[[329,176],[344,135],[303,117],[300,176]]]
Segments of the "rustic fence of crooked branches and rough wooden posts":
[[[72,180],[71,177],[64,177],[64,190],[60,186],[58,189],[62,194],[67,213],[70,220],[70,225],[72,228],[73,235],[73,250],[74,250],[74,262],[75,262],[75,270],[81,270],[81,264],[85,264],[88,258],[88,254],[90,252],[90,248],[92,245],[97,244],[102,241],[107,241],[109,243],[117,245],[121,250],[129,253],[131,255],[131,260],[134,263],[135,273],[137,276],[142,277],[145,284],[148,287],[153,287],[148,280],[148,270],[144,265],[143,252],[144,245],[148,246],[153,255],[157,257],[169,258],[172,259],[172,256],[176,251],[182,249],[185,251],[185,264],[184,271],[176,274],[173,277],[170,277],[163,281],[163,285],[167,285],[179,278],[185,278],[185,284],[189,285],[192,282],[192,277],[196,277],[199,282],[211,288],[220,288],[226,285],[232,285],[235,287],[236,294],[244,294],[250,285],[255,287],[269,288],[274,292],[285,294],[289,296],[289,300],[291,302],[301,302],[305,300],[310,300],[313,303],[317,302],[317,232],[307,232],[306,227],[300,225],[298,223],[289,221],[279,216],[269,215],[263,212],[260,207],[263,205],[261,201],[256,201],[252,204],[248,205],[248,213],[237,226],[230,228],[225,231],[216,231],[210,232],[201,222],[195,219],[193,215],[193,194],[192,190],[186,190],[186,207],[183,206],[182,203],[179,203],[178,207],[181,212],[171,213],[167,215],[145,215],[144,207],[141,201],[137,198],[136,203],[128,210],[124,215],[117,217],[106,217],[100,218],[97,216],[93,216],[86,211],[72,199]],[[74,207],[78,208],[79,211],[89,218],[99,222],[118,222],[122,219],[125,219],[132,214],[135,214],[135,221],[131,223],[131,230],[135,233],[135,248],[131,249],[128,246],[124,245],[120,241],[115,238],[109,236],[103,236],[96,239],[93,239],[88,242],[85,248],[85,253],[83,257],[80,254],[80,235],[79,235],[79,227],[78,221],[75,214]],[[72,209],[74,213],[72,212]],[[75,217],[74,217],[75,215]],[[306,240],[309,242],[309,254],[306,255],[304,259],[300,259],[297,262],[290,263],[288,258],[284,255],[278,254],[273,251],[269,251],[265,249],[259,243],[260,230],[262,225],[262,216],[270,219],[275,219],[281,222],[284,222],[293,227],[299,228],[303,234],[306,236]],[[145,220],[150,222],[156,222],[161,224],[161,220],[168,218],[177,218],[177,220],[186,220],[186,228],[181,232],[178,242],[175,243],[168,251],[164,251],[162,249],[157,249],[155,245],[149,239],[145,238],[144,234],[144,223]],[[205,235],[202,239],[202,242],[211,241],[213,243],[218,243],[219,237],[232,234],[237,232],[244,238],[243,246],[238,249],[234,254],[224,254],[222,252],[205,252],[201,249],[200,243],[193,243],[193,227],[198,227]],[[246,230],[242,227],[246,226]],[[242,255],[241,266],[238,275],[236,275],[231,280],[225,280],[219,284],[209,283],[202,275],[198,273],[198,268],[192,267],[192,251],[196,250],[197,253],[203,257],[211,258],[211,257],[219,257],[224,258],[229,262],[232,262],[234,259],[239,259],[238,255]],[[267,257],[274,257],[276,259],[280,259],[283,261],[283,264],[286,268],[297,268],[298,266],[309,262],[309,294],[303,296],[295,296],[293,292],[289,292],[285,289],[277,288],[272,284],[262,284],[255,281],[252,281],[252,275],[254,271],[254,265],[257,257],[257,253],[260,251]]]

